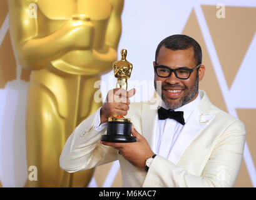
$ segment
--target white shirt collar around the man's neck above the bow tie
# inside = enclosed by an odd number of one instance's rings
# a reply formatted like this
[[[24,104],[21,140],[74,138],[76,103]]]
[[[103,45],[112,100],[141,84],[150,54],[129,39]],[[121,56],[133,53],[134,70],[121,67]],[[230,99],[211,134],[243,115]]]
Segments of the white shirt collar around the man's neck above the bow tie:
[[[200,101],[201,101],[201,96],[198,93],[197,98],[195,98],[195,100],[191,101],[188,104],[183,105],[180,108],[175,109],[174,111],[183,111],[183,118],[185,122],[187,122],[187,119],[189,118],[190,114],[192,114],[193,110],[197,108]],[[168,109],[166,108],[165,103],[163,101],[161,102],[161,107]]]

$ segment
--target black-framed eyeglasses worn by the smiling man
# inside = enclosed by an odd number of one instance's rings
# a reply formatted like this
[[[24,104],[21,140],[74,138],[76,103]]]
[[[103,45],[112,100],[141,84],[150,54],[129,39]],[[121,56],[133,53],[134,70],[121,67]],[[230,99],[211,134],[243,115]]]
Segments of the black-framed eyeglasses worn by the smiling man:
[[[201,65],[202,64],[200,63],[200,64],[198,64],[198,66],[196,66],[193,69],[185,68],[185,67],[171,69],[164,65],[160,65],[160,66],[155,65],[154,68],[155,68],[157,76],[159,76],[161,78],[168,78],[169,76],[171,76],[172,72],[174,72],[175,76],[178,79],[188,79],[188,78],[190,78],[191,73],[193,73],[193,71],[195,71],[197,68],[200,68]]]

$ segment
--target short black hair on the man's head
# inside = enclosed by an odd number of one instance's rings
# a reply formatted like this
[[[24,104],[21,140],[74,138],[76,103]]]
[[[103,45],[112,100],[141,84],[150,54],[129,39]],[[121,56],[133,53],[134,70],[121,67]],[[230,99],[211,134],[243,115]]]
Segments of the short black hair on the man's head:
[[[192,37],[182,34],[166,37],[158,44],[156,48],[155,61],[158,57],[161,46],[165,46],[166,48],[172,49],[173,51],[185,50],[193,47],[196,64],[198,65],[202,63],[202,49],[198,42],[195,41],[195,39]]]

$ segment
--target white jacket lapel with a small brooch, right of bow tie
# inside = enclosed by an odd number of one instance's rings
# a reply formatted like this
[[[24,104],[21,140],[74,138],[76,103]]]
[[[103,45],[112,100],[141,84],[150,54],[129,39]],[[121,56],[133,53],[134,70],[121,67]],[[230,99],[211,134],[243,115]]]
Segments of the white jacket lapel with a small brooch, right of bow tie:
[[[215,115],[208,114],[211,104],[208,97],[203,91],[200,91],[200,95],[202,100],[198,108],[196,108],[188,118],[187,123],[183,127],[177,141],[173,144],[173,148],[168,156],[168,160],[173,164],[178,163],[183,152],[192,143],[193,139],[202,133],[203,129],[215,118]]]

